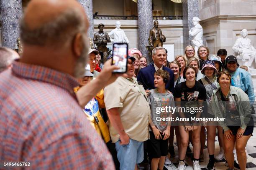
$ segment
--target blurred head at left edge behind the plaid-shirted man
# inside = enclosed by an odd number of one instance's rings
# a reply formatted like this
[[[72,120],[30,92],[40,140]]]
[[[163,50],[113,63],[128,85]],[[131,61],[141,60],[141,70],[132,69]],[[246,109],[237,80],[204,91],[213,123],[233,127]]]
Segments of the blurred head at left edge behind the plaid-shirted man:
[[[7,47],[0,47],[0,72],[11,68],[13,60],[20,58],[18,53]]]

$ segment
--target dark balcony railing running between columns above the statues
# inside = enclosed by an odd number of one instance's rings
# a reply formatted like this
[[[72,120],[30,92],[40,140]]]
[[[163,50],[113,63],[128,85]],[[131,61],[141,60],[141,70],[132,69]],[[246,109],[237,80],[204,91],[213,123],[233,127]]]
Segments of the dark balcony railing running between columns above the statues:
[[[95,20],[138,20],[135,15],[93,15]],[[182,20],[183,16],[153,16],[153,20]]]

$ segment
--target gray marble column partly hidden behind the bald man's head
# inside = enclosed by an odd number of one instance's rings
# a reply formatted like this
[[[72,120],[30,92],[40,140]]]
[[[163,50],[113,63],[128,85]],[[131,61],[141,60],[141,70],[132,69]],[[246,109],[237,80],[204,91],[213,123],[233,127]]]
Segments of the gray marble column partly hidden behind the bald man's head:
[[[93,11],[92,11],[92,0],[78,0],[81,5],[84,7],[84,10],[87,14],[90,26],[88,29],[88,37],[93,38],[94,35],[94,26],[93,26]]]

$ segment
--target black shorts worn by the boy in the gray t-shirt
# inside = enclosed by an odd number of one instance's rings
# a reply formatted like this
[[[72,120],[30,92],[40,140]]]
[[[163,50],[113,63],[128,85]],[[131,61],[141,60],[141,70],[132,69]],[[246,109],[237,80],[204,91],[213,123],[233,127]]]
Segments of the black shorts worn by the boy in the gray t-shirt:
[[[149,158],[160,158],[161,156],[168,155],[168,139],[163,140],[164,135],[162,135],[162,139],[157,140],[153,132],[149,131],[149,140],[147,143],[148,157]]]

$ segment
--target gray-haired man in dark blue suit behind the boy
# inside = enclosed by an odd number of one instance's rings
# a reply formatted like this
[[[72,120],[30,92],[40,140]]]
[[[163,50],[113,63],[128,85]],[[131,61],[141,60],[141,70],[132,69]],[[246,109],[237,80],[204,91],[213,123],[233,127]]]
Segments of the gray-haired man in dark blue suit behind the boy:
[[[174,92],[174,74],[171,69],[168,67],[164,67],[164,60],[166,59],[166,52],[163,47],[156,47],[152,50],[152,59],[154,63],[152,65],[149,65],[148,67],[142,68],[138,72],[137,80],[138,82],[141,82],[144,89],[154,89],[154,73],[156,70],[166,70],[170,74],[170,80],[166,83],[166,89],[170,92]]]

